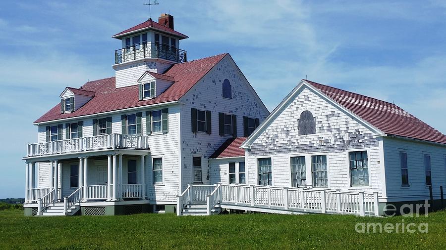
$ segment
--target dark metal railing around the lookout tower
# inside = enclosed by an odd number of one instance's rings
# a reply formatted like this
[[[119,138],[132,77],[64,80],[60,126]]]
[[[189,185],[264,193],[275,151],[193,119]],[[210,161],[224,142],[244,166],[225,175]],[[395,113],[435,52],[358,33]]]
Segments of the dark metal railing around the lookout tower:
[[[160,43],[143,43],[116,49],[114,63],[124,63],[143,58],[163,58],[177,63],[187,61],[186,51]]]

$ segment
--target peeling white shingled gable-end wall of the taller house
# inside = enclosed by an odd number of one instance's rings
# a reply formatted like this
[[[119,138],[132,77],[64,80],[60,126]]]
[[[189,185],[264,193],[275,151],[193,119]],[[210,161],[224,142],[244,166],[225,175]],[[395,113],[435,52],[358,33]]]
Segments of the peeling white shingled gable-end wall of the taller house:
[[[222,83],[228,79],[232,87],[232,99],[222,97]],[[219,135],[219,112],[237,115],[237,136],[243,136],[243,116],[259,118],[263,122],[268,111],[257,101],[249,89],[249,83],[238,70],[235,63],[226,56],[208,72],[189,92],[183,96],[185,103],[181,113],[181,161],[182,189],[192,183],[193,156],[202,157],[202,180],[204,184],[211,181],[208,158],[225,140],[232,136]],[[210,110],[212,133],[192,133],[191,108]]]

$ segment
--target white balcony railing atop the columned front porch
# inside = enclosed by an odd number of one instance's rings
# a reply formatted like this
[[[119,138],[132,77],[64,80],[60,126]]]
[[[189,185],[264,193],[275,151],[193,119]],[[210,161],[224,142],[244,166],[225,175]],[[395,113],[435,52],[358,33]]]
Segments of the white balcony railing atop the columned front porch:
[[[105,134],[76,139],[49,141],[27,145],[27,157],[108,148],[149,149],[145,135]]]

